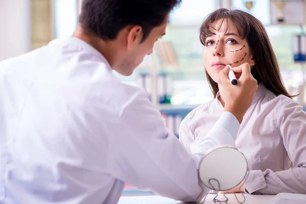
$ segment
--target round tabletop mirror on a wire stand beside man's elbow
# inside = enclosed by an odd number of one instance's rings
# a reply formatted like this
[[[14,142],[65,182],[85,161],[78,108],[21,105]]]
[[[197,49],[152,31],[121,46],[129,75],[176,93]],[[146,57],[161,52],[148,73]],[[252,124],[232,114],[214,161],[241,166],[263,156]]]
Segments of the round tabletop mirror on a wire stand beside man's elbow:
[[[242,152],[232,146],[214,148],[205,155],[199,165],[199,177],[203,184],[216,191],[230,190],[239,185],[248,172]]]

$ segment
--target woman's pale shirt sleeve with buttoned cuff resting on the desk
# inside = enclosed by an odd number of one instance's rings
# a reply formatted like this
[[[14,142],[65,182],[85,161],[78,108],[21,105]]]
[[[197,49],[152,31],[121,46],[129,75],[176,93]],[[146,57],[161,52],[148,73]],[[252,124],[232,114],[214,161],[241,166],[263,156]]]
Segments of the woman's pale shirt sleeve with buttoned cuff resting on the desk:
[[[306,194],[306,113],[292,100],[278,110],[277,126],[293,168],[278,172],[252,170],[245,191],[254,194]]]

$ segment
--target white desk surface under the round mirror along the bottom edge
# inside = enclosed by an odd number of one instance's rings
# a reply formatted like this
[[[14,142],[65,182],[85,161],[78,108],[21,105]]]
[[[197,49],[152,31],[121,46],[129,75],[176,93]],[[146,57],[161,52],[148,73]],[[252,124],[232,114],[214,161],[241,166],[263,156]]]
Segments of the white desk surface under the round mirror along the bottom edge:
[[[218,195],[218,199],[223,200],[223,194]],[[234,194],[226,194],[228,198],[228,204],[239,204],[239,202],[236,200]],[[273,195],[249,195],[244,194],[245,196],[245,202],[243,204],[265,204],[270,199],[272,199]],[[216,204],[213,201],[214,195],[208,195],[205,204]],[[237,194],[237,197],[239,201],[243,200],[243,197],[241,194]],[[175,201],[173,199],[161,197],[161,196],[126,196],[121,197],[119,199],[118,204],[179,204],[182,203],[180,201]],[[218,202],[217,202],[218,203]]]

